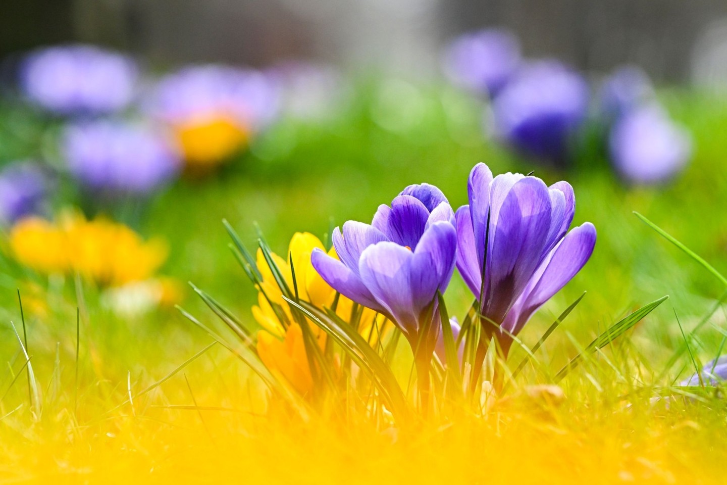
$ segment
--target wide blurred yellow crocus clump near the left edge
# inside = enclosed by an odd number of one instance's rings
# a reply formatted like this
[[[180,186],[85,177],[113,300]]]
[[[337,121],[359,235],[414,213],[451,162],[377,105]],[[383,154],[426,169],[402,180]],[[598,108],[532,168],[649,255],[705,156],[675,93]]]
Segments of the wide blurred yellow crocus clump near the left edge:
[[[57,223],[37,217],[10,231],[18,262],[40,273],[80,273],[100,286],[143,281],[166,260],[162,241],[143,241],[125,225],[66,214]]]

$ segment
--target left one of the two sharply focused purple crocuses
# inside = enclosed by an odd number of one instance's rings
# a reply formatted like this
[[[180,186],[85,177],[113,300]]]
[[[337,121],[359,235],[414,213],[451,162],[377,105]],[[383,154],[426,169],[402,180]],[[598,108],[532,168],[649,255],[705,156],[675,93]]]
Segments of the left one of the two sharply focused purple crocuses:
[[[316,249],[316,271],[345,297],[385,313],[415,348],[430,323],[423,318],[438,321],[437,292],[454,272],[457,233],[444,194],[433,185],[409,185],[391,206],[379,206],[371,225],[348,221],[332,239],[340,260]],[[430,328],[433,350],[438,326]]]

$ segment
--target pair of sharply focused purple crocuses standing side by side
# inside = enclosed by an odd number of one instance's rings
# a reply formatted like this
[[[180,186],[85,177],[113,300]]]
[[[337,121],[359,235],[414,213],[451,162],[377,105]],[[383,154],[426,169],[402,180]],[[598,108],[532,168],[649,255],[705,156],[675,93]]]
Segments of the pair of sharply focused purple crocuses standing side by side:
[[[453,215],[438,188],[410,185],[371,224],[337,228],[340,260],[314,249],[313,267],[341,294],[390,318],[416,353],[439,334],[437,293],[456,265],[479,302],[483,331],[507,355],[511,336],[590,258],[595,228],[585,223],[569,232],[575,197],[566,182],[493,177],[478,164],[467,189],[470,204]]]

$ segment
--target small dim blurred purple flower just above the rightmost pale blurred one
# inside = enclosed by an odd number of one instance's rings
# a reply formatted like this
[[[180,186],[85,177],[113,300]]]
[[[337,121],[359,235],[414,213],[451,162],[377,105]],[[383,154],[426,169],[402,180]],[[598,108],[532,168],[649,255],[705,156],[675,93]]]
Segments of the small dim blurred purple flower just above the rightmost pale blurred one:
[[[653,102],[654,87],[646,73],[635,66],[616,70],[603,83],[598,95],[601,116],[609,123]]]

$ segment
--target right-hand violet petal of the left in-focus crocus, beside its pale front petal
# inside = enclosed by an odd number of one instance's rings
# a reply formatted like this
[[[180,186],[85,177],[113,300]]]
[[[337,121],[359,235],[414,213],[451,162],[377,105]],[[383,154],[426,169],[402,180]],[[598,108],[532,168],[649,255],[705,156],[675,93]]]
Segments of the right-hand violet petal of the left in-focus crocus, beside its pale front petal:
[[[437,290],[442,293],[454,272],[457,253],[457,231],[454,225],[434,223],[422,236],[411,262],[411,294],[417,313],[434,301]]]

